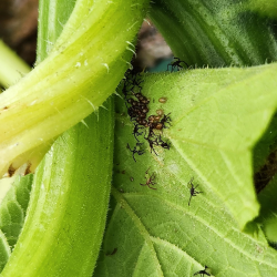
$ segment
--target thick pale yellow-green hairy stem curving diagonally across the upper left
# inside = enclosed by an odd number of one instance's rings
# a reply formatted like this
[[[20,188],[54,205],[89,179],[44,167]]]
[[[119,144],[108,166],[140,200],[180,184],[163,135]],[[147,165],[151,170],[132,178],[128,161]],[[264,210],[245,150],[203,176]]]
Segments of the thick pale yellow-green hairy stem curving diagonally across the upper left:
[[[133,52],[147,0],[79,0],[51,54],[0,95],[0,175],[95,111]]]

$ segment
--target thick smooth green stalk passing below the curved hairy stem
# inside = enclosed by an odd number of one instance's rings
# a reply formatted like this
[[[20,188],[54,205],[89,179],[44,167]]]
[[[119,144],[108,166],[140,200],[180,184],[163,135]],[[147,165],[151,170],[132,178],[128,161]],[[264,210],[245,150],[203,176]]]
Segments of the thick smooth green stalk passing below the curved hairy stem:
[[[105,226],[113,105],[65,132],[38,167],[23,230],[1,277],[90,277]]]

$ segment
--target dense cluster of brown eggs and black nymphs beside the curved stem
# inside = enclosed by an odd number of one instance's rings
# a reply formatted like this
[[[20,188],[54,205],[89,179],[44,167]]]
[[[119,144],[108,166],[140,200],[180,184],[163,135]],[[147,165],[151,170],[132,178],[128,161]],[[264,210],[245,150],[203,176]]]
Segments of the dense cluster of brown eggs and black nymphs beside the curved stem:
[[[157,155],[155,151],[157,146],[170,150],[170,143],[163,141],[161,133],[157,134],[155,132],[155,130],[162,131],[168,127],[171,124],[170,113],[164,114],[163,110],[157,110],[156,114],[147,116],[150,100],[142,94],[142,82],[143,78],[141,73],[127,71],[122,89],[127,114],[134,124],[133,135],[136,140],[136,145],[132,150],[127,144],[127,148],[133,153],[135,162],[134,154],[144,154],[144,150],[141,150],[143,143],[140,141],[138,136],[143,135],[143,138],[150,145],[151,153],[153,151]],[[160,102],[166,102],[166,99],[161,98]]]

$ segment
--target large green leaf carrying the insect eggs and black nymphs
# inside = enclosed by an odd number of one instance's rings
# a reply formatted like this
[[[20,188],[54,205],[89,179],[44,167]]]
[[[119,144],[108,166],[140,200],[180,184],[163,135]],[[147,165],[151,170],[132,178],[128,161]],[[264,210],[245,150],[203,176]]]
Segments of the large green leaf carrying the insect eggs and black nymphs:
[[[193,276],[205,265],[213,276],[277,276],[277,253],[260,228],[250,223],[242,232],[259,211],[253,147],[276,112],[276,69],[147,75],[148,115],[171,113],[163,140],[172,147],[155,155],[138,136],[147,151],[136,163],[126,148],[136,143],[133,123],[119,100],[112,212],[94,277]],[[146,171],[156,189],[140,185]],[[202,193],[188,206],[192,177]]]

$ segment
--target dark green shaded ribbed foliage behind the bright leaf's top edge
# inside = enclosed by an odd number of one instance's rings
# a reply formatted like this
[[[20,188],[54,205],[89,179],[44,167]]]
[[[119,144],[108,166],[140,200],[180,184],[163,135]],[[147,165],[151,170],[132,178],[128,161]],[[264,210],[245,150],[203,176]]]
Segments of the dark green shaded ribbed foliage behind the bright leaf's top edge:
[[[259,16],[256,10],[263,6],[253,11],[252,2],[156,0],[150,17],[175,57],[189,65],[242,66],[276,61],[276,22]]]

